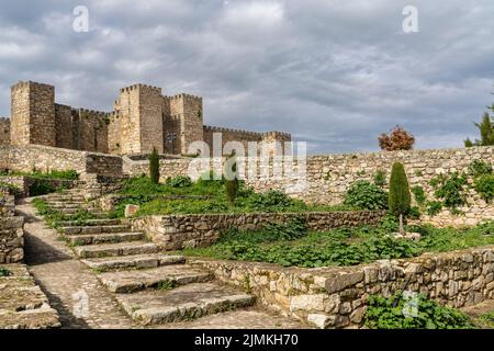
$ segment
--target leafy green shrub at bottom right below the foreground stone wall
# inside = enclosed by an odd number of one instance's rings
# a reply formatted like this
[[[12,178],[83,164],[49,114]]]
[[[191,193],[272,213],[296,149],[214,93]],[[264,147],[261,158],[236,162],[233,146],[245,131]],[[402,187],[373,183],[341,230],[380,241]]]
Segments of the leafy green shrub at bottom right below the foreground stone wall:
[[[413,301],[411,299],[413,298]],[[469,317],[422,294],[405,298],[370,296],[364,325],[371,329],[470,329]]]

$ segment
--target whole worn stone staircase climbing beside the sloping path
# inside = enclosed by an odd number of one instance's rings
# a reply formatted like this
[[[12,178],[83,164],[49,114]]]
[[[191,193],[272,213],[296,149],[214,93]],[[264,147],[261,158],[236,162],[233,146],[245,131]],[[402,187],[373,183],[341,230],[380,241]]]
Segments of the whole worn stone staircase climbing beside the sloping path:
[[[52,208],[74,214],[86,208],[96,219],[65,220],[57,223],[64,239],[72,247],[81,261],[91,268],[100,282],[114,294],[120,306],[136,322],[156,326],[188,322],[207,315],[222,313],[248,313],[255,297],[215,281],[211,272],[187,264],[182,256],[161,253],[146,240],[144,233],[132,231],[121,219],[105,218],[105,213],[89,205],[80,190],[49,194],[44,197]],[[256,308],[256,307],[254,307]],[[266,312],[255,312],[256,318],[265,318],[266,326],[276,328],[299,327],[293,322]],[[237,326],[248,328],[249,318],[235,318]],[[257,320],[258,322],[259,320]],[[271,321],[271,322],[270,322]],[[206,327],[211,327],[211,320]]]

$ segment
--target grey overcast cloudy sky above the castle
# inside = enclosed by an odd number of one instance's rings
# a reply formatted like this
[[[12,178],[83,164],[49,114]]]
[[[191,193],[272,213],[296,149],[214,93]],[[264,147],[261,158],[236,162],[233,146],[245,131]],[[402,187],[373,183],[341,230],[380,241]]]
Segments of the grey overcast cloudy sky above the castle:
[[[311,152],[377,150],[396,124],[416,148],[459,147],[494,101],[493,14],[492,0],[1,0],[0,115],[18,80],[102,111],[143,82],[202,95],[205,124],[287,131]]]

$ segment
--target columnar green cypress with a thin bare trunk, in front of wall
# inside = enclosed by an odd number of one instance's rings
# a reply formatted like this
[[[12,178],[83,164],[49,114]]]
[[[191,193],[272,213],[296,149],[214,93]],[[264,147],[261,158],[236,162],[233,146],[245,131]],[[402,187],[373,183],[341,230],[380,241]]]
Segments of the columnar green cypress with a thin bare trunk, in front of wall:
[[[390,179],[389,206],[391,213],[400,218],[400,234],[404,235],[403,218],[409,213],[412,196],[406,179],[405,168],[394,162]]]

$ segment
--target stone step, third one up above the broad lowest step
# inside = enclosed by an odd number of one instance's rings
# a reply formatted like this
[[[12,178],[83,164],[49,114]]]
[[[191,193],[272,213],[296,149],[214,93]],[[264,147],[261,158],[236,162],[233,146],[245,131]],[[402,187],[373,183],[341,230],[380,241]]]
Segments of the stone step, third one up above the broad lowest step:
[[[153,242],[132,241],[132,242],[76,246],[74,248],[74,251],[79,258],[89,259],[101,257],[157,253],[159,249]]]

